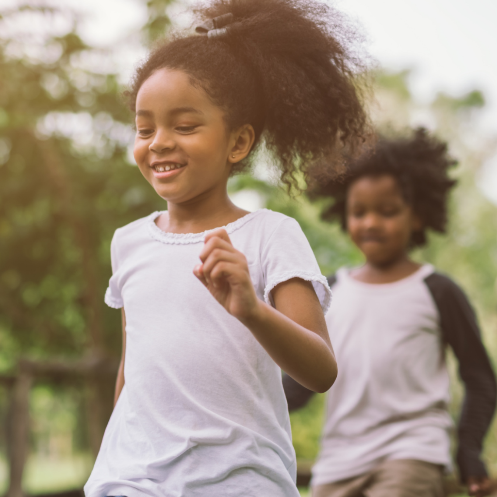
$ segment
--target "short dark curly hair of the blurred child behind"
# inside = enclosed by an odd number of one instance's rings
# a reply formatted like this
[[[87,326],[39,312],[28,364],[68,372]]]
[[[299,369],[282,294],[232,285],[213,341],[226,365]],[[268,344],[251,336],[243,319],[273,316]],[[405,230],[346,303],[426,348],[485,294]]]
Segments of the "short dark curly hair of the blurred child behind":
[[[426,129],[417,128],[413,136],[396,139],[380,138],[375,146],[352,161],[345,174],[316,185],[311,196],[334,200],[322,217],[338,220],[347,229],[346,201],[350,185],[364,176],[391,175],[395,177],[404,200],[419,216],[423,228],[411,237],[411,247],[426,244],[426,229],[445,233],[447,198],[456,180],[450,179],[448,169],[457,164],[447,153],[447,144],[430,136]]]

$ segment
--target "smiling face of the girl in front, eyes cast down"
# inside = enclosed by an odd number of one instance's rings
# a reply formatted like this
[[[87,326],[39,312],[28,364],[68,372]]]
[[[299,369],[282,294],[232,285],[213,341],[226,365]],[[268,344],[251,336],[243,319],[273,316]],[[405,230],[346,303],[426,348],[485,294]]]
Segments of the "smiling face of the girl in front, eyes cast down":
[[[236,139],[223,110],[186,73],[160,69],[138,91],[135,160],[165,200],[226,191]]]

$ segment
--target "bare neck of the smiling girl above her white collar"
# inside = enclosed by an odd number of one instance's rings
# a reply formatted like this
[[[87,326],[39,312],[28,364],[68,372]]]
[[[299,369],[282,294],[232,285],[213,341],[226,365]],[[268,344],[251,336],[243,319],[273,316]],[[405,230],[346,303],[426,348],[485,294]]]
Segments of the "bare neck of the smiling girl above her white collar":
[[[167,202],[167,213],[156,219],[166,233],[202,233],[233,223],[248,214],[228,197],[209,196],[176,204]]]

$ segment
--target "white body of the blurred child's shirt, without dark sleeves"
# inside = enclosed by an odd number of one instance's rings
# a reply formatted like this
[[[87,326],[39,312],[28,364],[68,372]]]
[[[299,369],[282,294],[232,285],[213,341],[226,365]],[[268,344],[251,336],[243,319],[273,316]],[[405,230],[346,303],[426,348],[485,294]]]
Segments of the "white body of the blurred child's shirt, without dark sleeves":
[[[388,459],[450,466],[449,377],[425,265],[388,284],[337,272],[326,316],[338,364],[328,394],[313,485],[368,472]]]

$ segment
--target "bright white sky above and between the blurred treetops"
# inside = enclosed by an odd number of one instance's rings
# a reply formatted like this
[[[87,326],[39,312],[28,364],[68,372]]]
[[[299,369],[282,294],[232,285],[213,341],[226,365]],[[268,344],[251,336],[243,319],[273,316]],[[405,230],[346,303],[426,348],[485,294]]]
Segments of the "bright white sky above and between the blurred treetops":
[[[130,35],[146,21],[145,1],[53,1],[86,14],[83,38],[120,48],[118,66],[127,79],[137,57],[144,55],[133,48]],[[171,11],[180,23],[185,22],[184,5]],[[487,107],[481,129],[497,136],[496,0],[334,0],[334,5],[363,26],[368,51],[383,67],[413,70],[410,83],[418,100],[429,101],[440,90],[454,95],[483,90]],[[497,203],[497,157],[487,171],[482,189]]]

